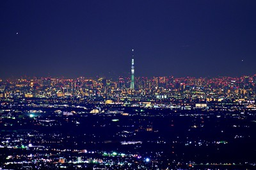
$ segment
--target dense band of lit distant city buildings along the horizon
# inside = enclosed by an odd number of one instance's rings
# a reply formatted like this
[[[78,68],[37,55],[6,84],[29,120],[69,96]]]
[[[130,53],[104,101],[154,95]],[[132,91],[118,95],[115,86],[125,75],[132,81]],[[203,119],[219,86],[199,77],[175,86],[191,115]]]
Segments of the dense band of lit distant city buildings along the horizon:
[[[132,67],[133,73],[134,68]],[[86,98],[106,104],[136,102],[246,102],[256,97],[256,75],[243,77],[35,77],[0,82],[0,98]]]

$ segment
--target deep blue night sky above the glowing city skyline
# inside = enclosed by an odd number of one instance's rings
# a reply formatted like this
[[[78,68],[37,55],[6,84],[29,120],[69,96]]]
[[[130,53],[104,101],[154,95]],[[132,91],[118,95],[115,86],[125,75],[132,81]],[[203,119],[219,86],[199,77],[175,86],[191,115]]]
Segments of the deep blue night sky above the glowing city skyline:
[[[0,78],[256,73],[256,1],[0,1]]]

